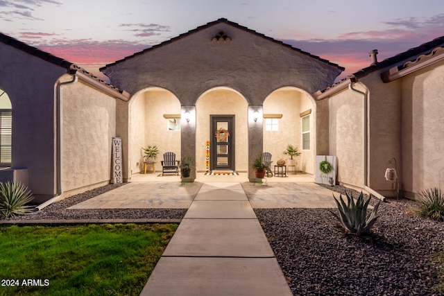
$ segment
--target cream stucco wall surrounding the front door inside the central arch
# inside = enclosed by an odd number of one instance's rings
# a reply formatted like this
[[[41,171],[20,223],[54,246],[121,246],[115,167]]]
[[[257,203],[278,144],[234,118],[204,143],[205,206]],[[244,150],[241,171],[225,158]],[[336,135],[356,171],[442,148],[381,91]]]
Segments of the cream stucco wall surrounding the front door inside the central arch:
[[[235,169],[248,171],[248,104],[237,92],[214,89],[196,103],[196,171],[205,171],[205,146],[210,137],[210,115],[234,114]]]

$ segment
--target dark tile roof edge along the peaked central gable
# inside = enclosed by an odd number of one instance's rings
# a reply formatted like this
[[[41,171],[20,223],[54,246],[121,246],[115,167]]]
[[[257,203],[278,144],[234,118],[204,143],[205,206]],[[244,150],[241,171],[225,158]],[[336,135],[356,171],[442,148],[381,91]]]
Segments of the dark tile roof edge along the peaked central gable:
[[[234,26],[235,28],[239,28],[239,29],[241,29],[241,30],[244,30],[244,31],[246,31],[246,32],[248,32],[248,33],[253,33],[253,34],[255,34],[255,35],[259,36],[259,37],[265,38],[266,40],[270,40],[271,42],[278,43],[278,44],[280,44],[280,45],[282,45],[282,46],[285,46],[285,47],[287,47],[287,48],[289,48],[289,49],[292,49],[292,50],[294,50],[294,51],[297,51],[298,53],[302,53],[303,55],[307,55],[307,56],[309,56],[310,58],[314,58],[315,60],[319,60],[319,61],[321,61],[321,62],[325,62],[326,64],[329,64],[330,66],[333,66],[333,67],[336,67],[336,68],[340,69],[341,71],[345,70],[344,67],[341,67],[341,66],[339,66],[338,64],[334,64],[334,63],[332,63],[332,62],[330,62],[330,61],[328,61],[328,60],[325,60],[325,59],[323,59],[323,58],[318,57],[317,55],[311,55],[311,53],[307,53],[306,51],[302,51],[301,49],[297,49],[296,47],[293,47],[293,46],[291,46],[290,44],[285,44],[285,43],[282,42],[282,41],[275,40],[275,39],[273,39],[272,37],[268,37],[268,36],[266,36],[266,35],[264,35],[264,34],[262,34],[262,33],[257,33],[257,32],[254,31],[254,30],[251,30],[251,29],[249,29],[249,28],[247,28],[247,27],[245,27],[245,26],[241,26],[241,25],[239,25],[239,24],[237,24],[237,23],[234,23],[233,21],[229,21],[228,19],[224,19],[224,18],[218,19],[218,20],[216,20],[216,21],[211,21],[211,22],[209,22],[209,23],[207,23],[207,24],[205,24],[205,25],[203,25],[203,26],[198,26],[197,28],[188,31],[187,33],[182,33],[182,34],[180,34],[180,35],[178,35],[178,36],[176,36],[176,37],[171,38],[170,40],[167,40],[167,41],[164,41],[164,42],[162,42],[162,43],[160,43],[160,44],[156,44],[156,45],[154,45],[154,46],[151,46],[151,47],[149,47],[148,49],[144,49],[143,51],[139,51],[138,53],[134,53],[133,55],[130,55],[130,56],[126,57],[126,58],[123,58],[122,60],[117,60],[116,62],[113,62],[113,63],[111,63],[111,64],[107,64],[107,65],[105,65],[105,67],[102,67],[100,70],[102,71],[103,69],[106,69],[106,68],[108,68],[108,67],[112,67],[112,66],[114,66],[115,64],[118,64],[118,63],[120,63],[120,62],[124,62],[124,61],[126,61],[126,60],[128,60],[128,59],[130,59],[130,58],[135,58],[137,55],[141,55],[141,54],[143,54],[143,53],[146,53],[147,51],[152,51],[153,49],[157,49],[157,48],[159,48],[159,47],[161,47],[161,46],[164,46],[164,45],[170,44],[171,42],[174,42],[174,41],[176,41],[176,40],[182,39],[183,37],[186,37],[186,36],[188,36],[188,35],[191,35],[191,34],[193,34],[193,33],[198,32],[198,31],[202,31],[202,30],[204,30],[205,28],[209,28],[210,26],[214,26],[214,25],[216,25],[216,24],[220,24],[220,23],[225,23],[225,24],[228,24],[228,25],[230,25],[230,26]]]

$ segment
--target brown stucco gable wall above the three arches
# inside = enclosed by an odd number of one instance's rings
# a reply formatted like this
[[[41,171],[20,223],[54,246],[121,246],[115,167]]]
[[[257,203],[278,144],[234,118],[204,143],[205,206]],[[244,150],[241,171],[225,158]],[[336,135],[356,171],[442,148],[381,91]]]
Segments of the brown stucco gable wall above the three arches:
[[[212,42],[223,31],[232,41]],[[287,46],[219,23],[103,69],[112,84],[135,94],[163,87],[182,105],[194,105],[207,89],[226,86],[262,105],[274,89],[293,86],[312,94],[331,85],[341,70]]]

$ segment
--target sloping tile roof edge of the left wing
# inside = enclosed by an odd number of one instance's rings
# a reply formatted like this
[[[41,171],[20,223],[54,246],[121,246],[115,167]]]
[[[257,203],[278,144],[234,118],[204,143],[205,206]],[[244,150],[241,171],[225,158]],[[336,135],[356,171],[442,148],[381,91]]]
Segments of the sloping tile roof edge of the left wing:
[[[67,70],[67,73],[74,75],[74,74],[80,74],[83,78],[86,80],[89,80],[90,83],[93,85],[96,85],[96,87],[99,87],[105,91],[108,90],[108,92],[117,92],[117,96],[122,99],[126,99],[126,97],[129,98],[129,94],[126,92],[121,91],[120,89],[117,89],[117,87],[114,87],[108,82],[105,82],[101,80],[100,78],[94,76],[92,73],[89,73],[82,67],[79,67],[78,65],[68,62],[67,60],[64,60],[62,58],[56,57],[56,55],[51,55],[51,53],[46,53],[45,51],[42,51],[40,49],[37,49],[34,46],[28,45],[24,42],[21,42],[15,38],[12,38],[8,35],[4,35],[0,33],[0,42],[7,44],[9,46],[15,47],[16,49],[19,49],[21,51],[24,51],[25,53],[29,53],[30,55],[34,55],[37,58],[41,58],[42,60],[45,60],[46,62],[50,62],[51,64],[56,64],[57,66],[60,66],[62,68],[65,68]],[[126,99],[128,101],[128,99]]]

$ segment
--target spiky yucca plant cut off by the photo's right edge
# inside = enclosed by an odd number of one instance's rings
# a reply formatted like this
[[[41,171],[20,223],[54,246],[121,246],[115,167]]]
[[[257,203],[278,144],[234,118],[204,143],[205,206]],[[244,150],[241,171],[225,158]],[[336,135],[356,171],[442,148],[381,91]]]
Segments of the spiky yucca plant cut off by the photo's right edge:
[[[420,193],[420,198],[419,213],[421,216],[444,221],[444,192],[441,189],[425,189]]]

